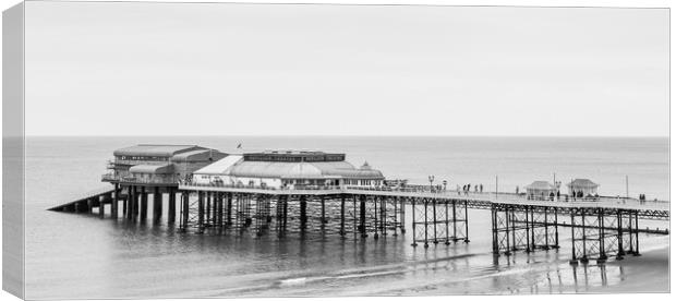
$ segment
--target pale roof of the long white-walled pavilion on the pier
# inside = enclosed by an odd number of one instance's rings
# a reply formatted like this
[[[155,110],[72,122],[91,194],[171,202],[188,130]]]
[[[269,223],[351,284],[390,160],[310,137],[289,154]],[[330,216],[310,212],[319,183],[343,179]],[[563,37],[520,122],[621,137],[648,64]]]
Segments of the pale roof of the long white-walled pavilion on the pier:
[[[280,179],[385,179],[379,170],[367,164],[355,168],[345,161],[345,154],[292,150],[231,155],[195,173]]]

